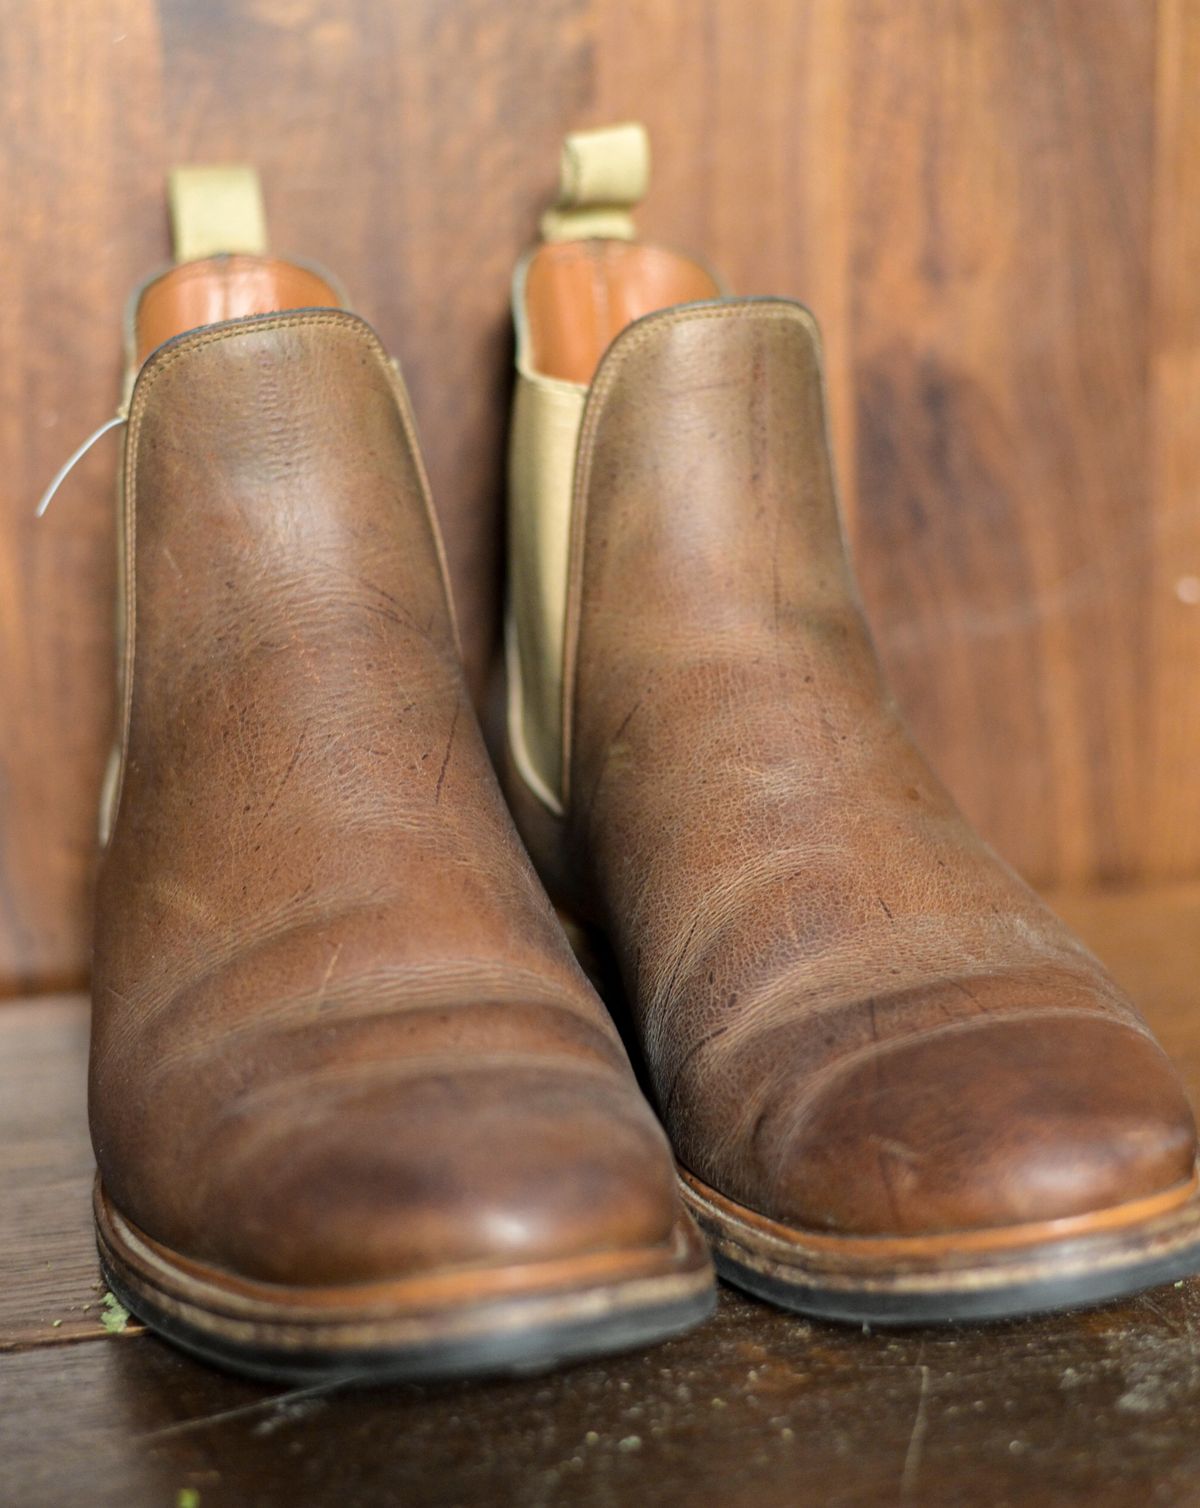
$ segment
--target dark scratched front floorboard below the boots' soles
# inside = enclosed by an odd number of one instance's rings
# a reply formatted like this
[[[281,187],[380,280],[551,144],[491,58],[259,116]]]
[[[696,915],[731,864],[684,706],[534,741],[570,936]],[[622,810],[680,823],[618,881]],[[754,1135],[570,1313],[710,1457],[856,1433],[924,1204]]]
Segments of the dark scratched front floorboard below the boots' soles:
[[[148,1336],[0,1357],[14,1508],[1189,1508],[1200,1289],[987,1332],[690,1336],[544,1378],[283,1392]]]

